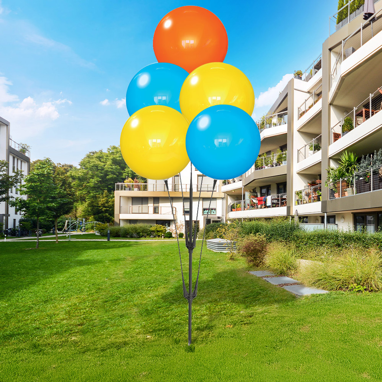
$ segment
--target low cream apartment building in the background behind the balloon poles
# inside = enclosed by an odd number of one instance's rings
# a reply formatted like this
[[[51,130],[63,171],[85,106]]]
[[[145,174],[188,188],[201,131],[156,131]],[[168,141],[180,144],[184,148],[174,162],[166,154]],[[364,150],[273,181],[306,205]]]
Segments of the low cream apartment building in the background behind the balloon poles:
[[[190,201],[189,192],[191,176],[192,201]],[[184,227],[185,219],[183,214],[185,214],[186,226],[188,227],[190,203],[193,204],[193,222],[197,222],[199,228],[203,228],[206,224],[212,222],[224,222],[225,202],[224,194],[221,192],[222,182],[218,181],[214,189],[213,183],[213,179],[202,176],[194,167],[191,170],[191,163],[180,174],[168,179],[175,220],[173,219],[167,188],[163,180],[147,179],[147,183],[116,183],[114,193],[115,225],[161,224],[173,230],[175,223],[183,223]],[[212,200],[210,204],[211,194]],[[182,231],[184,232],[184,228]]]

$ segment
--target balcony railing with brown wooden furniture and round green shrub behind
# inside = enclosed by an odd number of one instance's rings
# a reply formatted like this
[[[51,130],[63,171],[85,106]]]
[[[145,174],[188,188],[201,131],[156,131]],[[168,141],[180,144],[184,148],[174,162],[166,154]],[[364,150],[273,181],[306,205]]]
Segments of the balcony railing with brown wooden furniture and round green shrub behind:
[[[342,138],[353,128],[358,127],[364,121],[371,118],[382,110],[382,87],[379,87],[368,98],[363,100],[358,106],[354,106],[350,113],[330,129],[330,143]]]

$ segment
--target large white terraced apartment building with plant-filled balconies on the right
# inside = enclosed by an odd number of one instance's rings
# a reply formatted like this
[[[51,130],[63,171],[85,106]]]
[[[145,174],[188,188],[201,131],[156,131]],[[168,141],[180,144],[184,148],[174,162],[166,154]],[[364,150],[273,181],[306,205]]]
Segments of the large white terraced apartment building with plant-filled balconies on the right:
[[[372,158],[382,148],[382,1],[366,21],[351,3],[330,18],[322,52],[257,122],[256,163],[223,182],[228,220],[298,214],[310,229],[382,228],[378,163],[325,186],[343,152]]]

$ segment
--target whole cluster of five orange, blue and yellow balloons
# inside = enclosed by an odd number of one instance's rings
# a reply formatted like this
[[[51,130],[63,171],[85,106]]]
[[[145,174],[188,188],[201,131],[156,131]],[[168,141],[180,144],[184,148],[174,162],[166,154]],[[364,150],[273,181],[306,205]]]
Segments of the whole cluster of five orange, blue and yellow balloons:
[[[214,179],[248,171],[260,150],[254,92],[243,72],[223,63],[228,37],[220,19],[199,6],[176,8],[158,24],[153,46],[158,62],[140,70],[126,93],[127,165],[149,179],[170,178],[189,160]]]

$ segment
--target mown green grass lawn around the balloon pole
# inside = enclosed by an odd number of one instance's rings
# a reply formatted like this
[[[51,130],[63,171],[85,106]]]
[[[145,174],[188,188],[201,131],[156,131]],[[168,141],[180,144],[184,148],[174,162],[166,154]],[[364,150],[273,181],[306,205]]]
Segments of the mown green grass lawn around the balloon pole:
[[[31,247],[0,243],[2,382],[382,380],[382,293],[295,298],[204,250],[190,349],[176,242]]]

